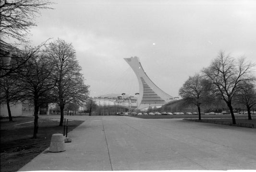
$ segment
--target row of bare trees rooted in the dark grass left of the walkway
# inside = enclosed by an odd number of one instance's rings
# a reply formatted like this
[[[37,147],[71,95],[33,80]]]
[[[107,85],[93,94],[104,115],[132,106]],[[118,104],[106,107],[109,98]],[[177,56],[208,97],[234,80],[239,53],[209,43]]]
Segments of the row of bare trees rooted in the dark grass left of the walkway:
[[[26,57],[26,53],[21,52]],[[20,55],[21,57],[23,57]],[[16,60],[16,59],[15,59]],[[14,61],[15,61],[14,60]],[[12,58],[10,62],[12,63]],[[2,64],[4,67],[4,64]],[[9,64],[8,64],[9,65]],[[12,120],[9,103],[28,101],[34,104],[34,138],[37,136],[38,111],[43,103],[57,103],[63,125],[64,106],[82,104],[88,97],[81,67],[72,44],[57,39],[40,46],[15,72],[0,78],[1,103],[6,103]],[[4,73],[4,72],[2,72]]]

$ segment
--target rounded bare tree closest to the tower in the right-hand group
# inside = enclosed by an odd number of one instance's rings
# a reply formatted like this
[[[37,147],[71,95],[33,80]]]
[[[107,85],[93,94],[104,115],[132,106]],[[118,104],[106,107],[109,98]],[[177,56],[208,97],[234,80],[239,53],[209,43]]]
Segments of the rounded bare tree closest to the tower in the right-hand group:
[[[209,91],[210,84],[199,74],[195,74],[193,77],[190,76],[179,90],[179,94],[185,103],[192,103],[197,106],[199,120],[201,120],[200,105],[210,99]]]

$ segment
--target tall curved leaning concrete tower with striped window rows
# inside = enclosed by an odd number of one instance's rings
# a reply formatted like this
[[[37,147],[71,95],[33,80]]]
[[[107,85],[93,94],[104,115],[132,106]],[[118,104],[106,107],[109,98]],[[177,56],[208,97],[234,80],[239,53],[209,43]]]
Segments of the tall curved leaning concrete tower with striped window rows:
[[[134,70],[138,81],[139,81],[139,97],[138,97],[138,108],[142,109],[148,106],[154,107],[163,105],[165,103],[174,100],[174,97],[163,92],[161,89],[152,82],[146,75],[146,72],[141,66],[138,57],[124,58],[124,60]]]

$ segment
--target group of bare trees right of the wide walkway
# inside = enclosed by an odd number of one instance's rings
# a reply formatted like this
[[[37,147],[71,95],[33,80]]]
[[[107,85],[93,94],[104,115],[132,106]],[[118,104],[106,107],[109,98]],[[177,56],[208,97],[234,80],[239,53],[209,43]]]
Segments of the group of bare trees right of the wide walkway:
[[[186,103],[197,106],[199,120],[201,104],[213,103],[219,97],[227,104],[233,124],[236,124],[234,104],[246,106],[248,119],[252,119],[250,110],[256,105],[255,66],[244,57],[236,59],[220,51],[209,67],[184,82],[179,94]]]

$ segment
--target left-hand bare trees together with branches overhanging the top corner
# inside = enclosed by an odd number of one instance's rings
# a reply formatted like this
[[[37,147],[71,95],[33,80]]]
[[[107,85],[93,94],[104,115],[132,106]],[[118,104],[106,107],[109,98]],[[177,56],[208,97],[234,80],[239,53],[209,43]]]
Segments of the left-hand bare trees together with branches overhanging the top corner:
[[[62,126],[64,106],[79,105],[88,97],[89,86],[84,84],[72,44],[58,39],[29,46],[29,29],[36,26],[41,10],[52,9],[51,4],[48,0],[0,1],[0,103],[7,105],[10,121],[10,103],[34,104],[34,138],[40,105],[57,103]]]

